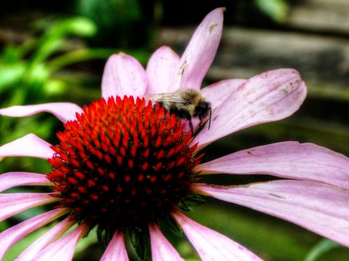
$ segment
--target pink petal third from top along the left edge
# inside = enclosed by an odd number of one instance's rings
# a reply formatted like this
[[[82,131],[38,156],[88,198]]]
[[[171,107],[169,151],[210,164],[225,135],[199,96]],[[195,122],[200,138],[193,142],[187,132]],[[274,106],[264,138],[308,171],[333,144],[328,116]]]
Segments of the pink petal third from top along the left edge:
[[[10,187],[24,185],[50,185],[46,175],[30,172],[8,172],[0,174],[0,192]]]

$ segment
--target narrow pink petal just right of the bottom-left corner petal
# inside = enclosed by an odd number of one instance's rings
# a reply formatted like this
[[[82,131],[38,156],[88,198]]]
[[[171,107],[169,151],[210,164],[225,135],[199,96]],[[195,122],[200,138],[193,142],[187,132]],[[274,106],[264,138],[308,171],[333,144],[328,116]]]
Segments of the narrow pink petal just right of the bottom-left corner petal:
[[[51,244],[59,236],[61,236],[66,230],[73,226],[75,221],[72,221],[70,216],[58,223],[54,228],[47,232],[42,237],[38,238],[34,243],[27,247],[16,261],[32,261],[35,260],[36,255],[45,248],[48,244]]]

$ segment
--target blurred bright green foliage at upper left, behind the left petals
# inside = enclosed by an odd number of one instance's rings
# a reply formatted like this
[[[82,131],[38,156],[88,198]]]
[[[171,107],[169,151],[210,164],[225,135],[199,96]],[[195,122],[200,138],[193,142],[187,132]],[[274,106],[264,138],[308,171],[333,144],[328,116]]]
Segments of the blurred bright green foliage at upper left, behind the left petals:
[[[22,45],[8,45],[0,54],[1,107],[49,102],[55,95],[67,92],[66,81],[57,72],[72,63],[93,58],[106,59],[110,49],[76,49],[70,35],[91,37],[96,25],[90,19],[73,17],[57,22],[41,20],[36,24],[44,32],[38,38],[29,38]],[[80,53],[79,53],[80,52]],[[83,58],[76,54],[84,54]],[[13,119],[0,118],[0,144],[30,132],[43,139],[52,134],[54,123],[43,116]]]

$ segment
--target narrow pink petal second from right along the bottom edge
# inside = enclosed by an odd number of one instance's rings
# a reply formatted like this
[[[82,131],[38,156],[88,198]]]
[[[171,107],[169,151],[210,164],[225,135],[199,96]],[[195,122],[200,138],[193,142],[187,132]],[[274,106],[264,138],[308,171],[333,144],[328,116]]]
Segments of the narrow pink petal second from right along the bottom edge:
[[[163,236],[161,230],[155,224],[149,225],[150,241],[151,241],[151,257],[153,261],[176,261],[184,260],[181,258],[177,250]]]

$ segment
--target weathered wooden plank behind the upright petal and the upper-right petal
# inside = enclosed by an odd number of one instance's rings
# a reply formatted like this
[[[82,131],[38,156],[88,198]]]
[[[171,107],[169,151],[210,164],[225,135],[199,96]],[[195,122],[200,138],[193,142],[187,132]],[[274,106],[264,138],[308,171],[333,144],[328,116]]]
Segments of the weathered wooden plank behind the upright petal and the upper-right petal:
[[[181,53],[193,28],[162,29],[158,45]],[[225,27],[207,81],[250,78],[275,68],[295,68],[309,95],[349,101],[349,40],[321,35]]]

